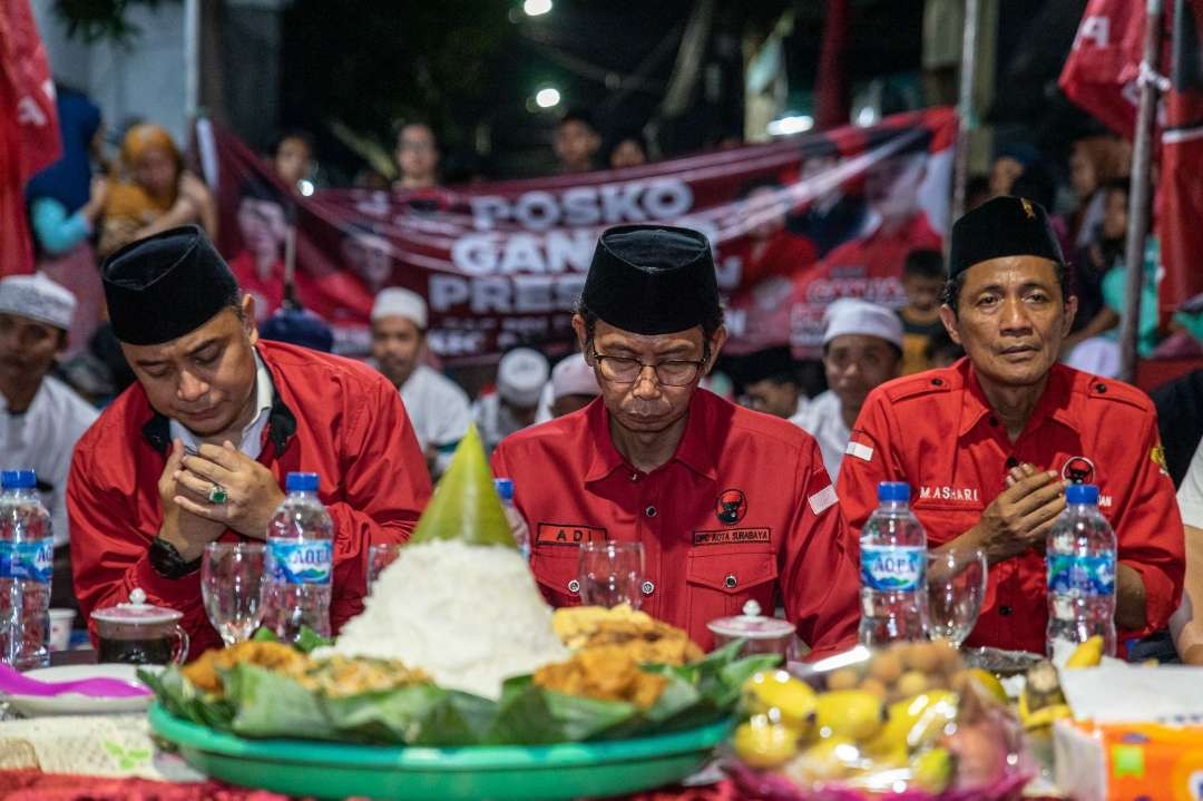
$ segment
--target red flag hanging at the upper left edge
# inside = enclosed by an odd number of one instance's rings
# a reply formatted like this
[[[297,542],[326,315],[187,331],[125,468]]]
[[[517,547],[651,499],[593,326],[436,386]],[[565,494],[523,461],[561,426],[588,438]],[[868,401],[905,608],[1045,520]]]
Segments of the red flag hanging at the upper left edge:
[[[34,268],[25,182],[61,152],[54,83],[29,0],[6,0],[0,4],[0,275]]]

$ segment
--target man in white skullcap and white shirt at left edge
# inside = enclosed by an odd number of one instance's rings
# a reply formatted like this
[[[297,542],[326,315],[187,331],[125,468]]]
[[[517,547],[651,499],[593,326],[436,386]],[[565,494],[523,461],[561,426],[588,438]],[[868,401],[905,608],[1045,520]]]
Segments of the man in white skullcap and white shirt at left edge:
[[[75,605],[66,547],[71,452],[99,414],[48,375],[67,345],[75,308],[75,295],[41,273],[0,280],[0,469],[37,473],[54,527],[57,605]]]

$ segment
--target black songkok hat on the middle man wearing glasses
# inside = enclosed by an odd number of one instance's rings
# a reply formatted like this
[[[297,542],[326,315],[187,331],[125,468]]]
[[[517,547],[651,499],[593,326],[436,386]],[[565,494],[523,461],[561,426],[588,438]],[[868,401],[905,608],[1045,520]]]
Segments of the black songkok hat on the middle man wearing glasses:
[[[598,239],[581,303],[640,334],[686,331],[722,316],[715,257],[691,229],[621,225]]]

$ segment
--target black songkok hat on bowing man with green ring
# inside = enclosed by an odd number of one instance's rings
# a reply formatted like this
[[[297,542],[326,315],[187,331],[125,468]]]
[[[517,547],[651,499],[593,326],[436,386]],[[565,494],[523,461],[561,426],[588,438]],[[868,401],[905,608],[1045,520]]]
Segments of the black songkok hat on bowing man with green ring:
[[[113,333],[129,345],[183,337],[238,298],[233,273],[195,225],[125,245],[100,273]]]

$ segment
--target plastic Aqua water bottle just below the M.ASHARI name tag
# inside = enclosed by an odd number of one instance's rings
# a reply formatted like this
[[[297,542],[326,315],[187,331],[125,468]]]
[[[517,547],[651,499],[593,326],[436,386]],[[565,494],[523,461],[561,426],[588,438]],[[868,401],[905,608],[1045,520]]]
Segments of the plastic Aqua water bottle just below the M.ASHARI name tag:
[[[926,639],[928,535],[911,511],[911,487],[877,486],[877,510],[860,530],[860,641]]]

